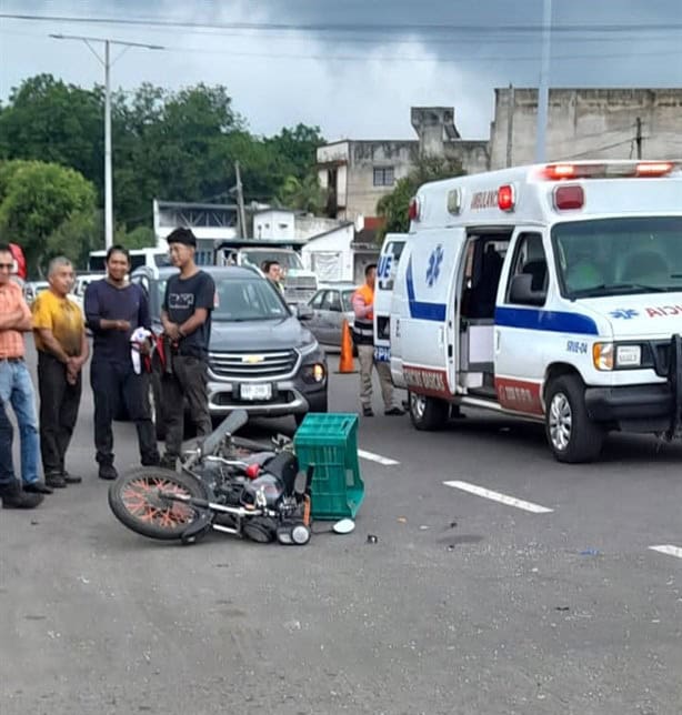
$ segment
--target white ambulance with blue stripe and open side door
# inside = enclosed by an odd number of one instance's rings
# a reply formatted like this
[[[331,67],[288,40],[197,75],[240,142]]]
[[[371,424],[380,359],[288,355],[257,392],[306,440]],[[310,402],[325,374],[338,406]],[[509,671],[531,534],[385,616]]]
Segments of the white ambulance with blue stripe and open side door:
[[[390,363],[418,430],[458,407],[544,423],[560,462],[682,433],[682,162],[548,163],[410,204]]]

